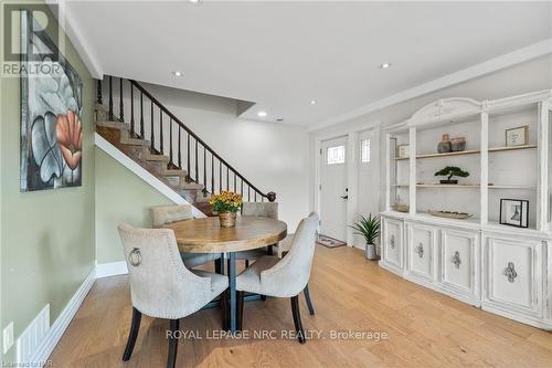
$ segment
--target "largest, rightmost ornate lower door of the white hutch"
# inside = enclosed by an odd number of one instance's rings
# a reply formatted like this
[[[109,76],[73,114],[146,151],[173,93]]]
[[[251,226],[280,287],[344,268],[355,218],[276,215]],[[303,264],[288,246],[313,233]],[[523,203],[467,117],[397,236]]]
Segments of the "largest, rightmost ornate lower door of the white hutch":
[[[503,309],[543,316],[543,243],[485,238],[484,302]]]

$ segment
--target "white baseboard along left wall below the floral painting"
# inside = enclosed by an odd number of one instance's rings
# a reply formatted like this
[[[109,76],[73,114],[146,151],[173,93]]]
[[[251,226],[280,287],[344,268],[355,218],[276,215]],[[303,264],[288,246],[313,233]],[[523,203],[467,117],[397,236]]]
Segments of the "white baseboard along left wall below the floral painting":
[[[84,282],[81,284],[76,293],[73,295],[71,301],[67,303],[65,308],[63,308],[57,319],[55,319],[53,325],[50,327],[50,329],[45,334],[44,339],[39,344],[36,350],[30,355],[29,359],[25,359],[28,361],[18,361],[18,365],[22,365],[22,367],[23,365],[24,367],[49,366],[47,358],[62,338],[65,329],[68,327],[71,320],[81,307],[81,304],[83,304],[84,298],[94,285],[95,280],[96,272],[95,270],[92,270]]]

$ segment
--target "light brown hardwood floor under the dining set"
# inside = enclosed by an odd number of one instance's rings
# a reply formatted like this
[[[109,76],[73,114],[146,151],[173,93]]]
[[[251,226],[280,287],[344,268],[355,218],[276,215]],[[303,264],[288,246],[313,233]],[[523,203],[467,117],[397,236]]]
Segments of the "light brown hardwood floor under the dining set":
[[[206,339],[219,309],[180,322],[203,339],[181,338],[178,367],[552,367],[552,334],[468,306],[404,281],[351,248],[318,246],[309,283],[316,315],[300,297],[306,329],[319,339]],[[55,367],[164,367],[168,322],[144,316],[123,364],[130,328],[127,276],[100,278],[51,356]],[[293,330],[289,299],[245,305],[244,329]],[[330,339],[331,330],[386,333],[388,339]],[[316,336],[316,335],[315,335]]]

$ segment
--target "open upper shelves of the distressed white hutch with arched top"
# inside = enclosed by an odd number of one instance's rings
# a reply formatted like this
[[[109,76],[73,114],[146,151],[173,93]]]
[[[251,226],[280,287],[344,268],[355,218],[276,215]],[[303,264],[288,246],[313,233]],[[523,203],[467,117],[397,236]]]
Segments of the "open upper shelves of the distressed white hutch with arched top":
[[[500,199],[521,199],[530,203],[529,229],[551,230],[550,99],[550,91],[486,102],[445,98],[391,127],[386,210],[403,204],[411,217],[431,217],[428,210],[468,212],[470,221],[496,225]],[[529,126],[529,140],[507,146],[506,129],[520,126]],[[437,153],[443,134],[465,137],[466,149]],[[408,157],[399,157],[399,145],[408,146]],[[439,183],[434,172],[445,166],[458,166],[470,176],[459,178],[458,185]]]

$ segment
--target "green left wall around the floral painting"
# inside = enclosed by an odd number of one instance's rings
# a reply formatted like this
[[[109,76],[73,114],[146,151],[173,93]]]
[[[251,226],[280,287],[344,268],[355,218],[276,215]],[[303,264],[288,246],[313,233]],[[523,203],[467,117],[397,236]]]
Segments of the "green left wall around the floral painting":
[[[14,340],[46,304],[54,323],[94,269],[95,83],[67,38],[62,52],[84,83],[82,187],[20,192],[20,81],[0,85],[0,329],[13,322]]]

